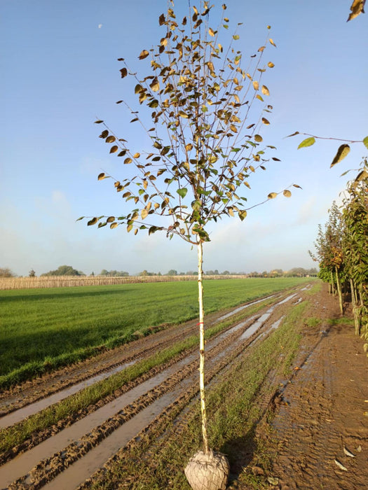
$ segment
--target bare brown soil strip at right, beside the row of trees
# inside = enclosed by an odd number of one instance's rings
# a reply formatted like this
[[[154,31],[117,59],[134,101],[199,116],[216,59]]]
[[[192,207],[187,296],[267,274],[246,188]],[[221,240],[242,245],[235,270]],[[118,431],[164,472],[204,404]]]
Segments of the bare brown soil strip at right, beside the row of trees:
[[[259,424],[259,439],[272,440],[276,454],[267,487],[367,489],[368,359],[326,288],[313,309],[311,316],[322,323],[306,329],[294,376],[275,398],[273,420]],[[329,318],[336,322],[327,323]]]

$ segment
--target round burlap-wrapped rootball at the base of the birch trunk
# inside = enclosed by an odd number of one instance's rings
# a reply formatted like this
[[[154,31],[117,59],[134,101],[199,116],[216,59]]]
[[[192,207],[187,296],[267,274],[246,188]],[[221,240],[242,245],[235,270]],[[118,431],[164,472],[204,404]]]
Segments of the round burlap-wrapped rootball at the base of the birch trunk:
[[[193,490],[225,490],[229,470],[229,461],[224,454],[210,450],[207,453],[198,451],[184,471]]]

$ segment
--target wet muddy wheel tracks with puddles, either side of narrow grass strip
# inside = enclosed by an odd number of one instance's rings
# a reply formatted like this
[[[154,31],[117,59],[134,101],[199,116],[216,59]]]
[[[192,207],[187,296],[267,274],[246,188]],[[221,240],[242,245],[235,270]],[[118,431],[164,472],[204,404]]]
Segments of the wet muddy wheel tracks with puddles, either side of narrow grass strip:
[[[234,323],[225,332],[210,339],[206,347],[206,382],[210,383],[238,356],[246,355],[252,344],[261,342],[271,330],[278,328],[285,311],[297,304],[302,295],[301,290],[294,290],[292,294],[276,296],[275,304],[271,307],[265,307],[257,316]],[[231,318],[231,315],[249,305],[212,316],[207,323],[214,325],[224,318]],[[158,346],[163,349],[196,330],[196,324],[189,322],[184,328],[183,325],[181,328],[168,328],[132,342],[132,345],[115,349],[110,356],[109,353],[102,353],[98,360],[94,358],[53,373],[42,381],[26,384],[24,398],[20,396],[21,388],[4,393],[1,406],[3,412],[8,411],[8,414],[0,421],[8,426],[16,423],[24,416],[38,412],[41,407],[50,405],[50,402],[54,403],[53,395],[62,400],[60,396],[76,393],[87,379],[88,383],[93,384],[101,376],[108,377],[116,369],[124,369],[128,363],[148,356]],[[83,381],[78,379],[79,375],[84,377]],[[77,416],[34,434],[32,440],[1,456],[0,488],[73,489],[83,485],[93,472],[139,433],[184,409],[198,392],[197,377],[198,354],[195,349],[151,370]],[[74,384],[73,380],[76,381]],[[50,396],[47,396],[48,388],[52,393]]]

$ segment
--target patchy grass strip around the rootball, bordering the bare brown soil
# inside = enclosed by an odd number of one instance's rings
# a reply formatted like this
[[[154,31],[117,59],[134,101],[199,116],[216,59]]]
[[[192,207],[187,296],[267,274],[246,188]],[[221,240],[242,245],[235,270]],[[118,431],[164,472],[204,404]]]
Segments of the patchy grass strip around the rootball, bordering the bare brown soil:
[[[266,401],[275,390],[275,386],[266,381],[268,374],[289,370],[289,363],[299,350],[298,325],[306,306],[303,302],[293,307],[277,330],[255,344],[249,355],[233,363],[220,374],[219,381],[207,389],[210,447],[226,454],[232,472],[242,474],[241,478],[257,445],[255,428],[266,410]],[[146,442],[149,436],[142,437],[142,442],[133,446],[129,454],[116,458],[89,488],[111,489],[128,482],[129,488],[134,490],[189,489],[183,470],[202,446],[198,405],[192,407],[185,423],[172,423],[153,449]],[[146,457],[146,451],[151,457]],[[267,470],[266,459],[263,467]]]

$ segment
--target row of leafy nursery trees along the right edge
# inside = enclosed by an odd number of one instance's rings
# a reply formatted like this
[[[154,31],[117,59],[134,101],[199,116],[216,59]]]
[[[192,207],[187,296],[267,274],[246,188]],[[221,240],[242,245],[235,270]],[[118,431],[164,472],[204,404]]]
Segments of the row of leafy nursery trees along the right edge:
[[[365,339],[368,352],[368,160],[348,183],[339,207],[329,210],[325,228],[318,227],[314,260],[320,262],[320,278],[330,293],[339,296],[341,314],[350,293],[355,333]]]

